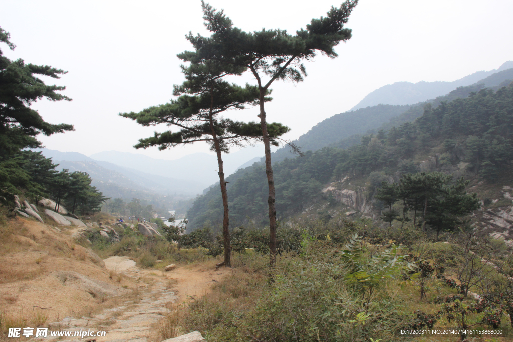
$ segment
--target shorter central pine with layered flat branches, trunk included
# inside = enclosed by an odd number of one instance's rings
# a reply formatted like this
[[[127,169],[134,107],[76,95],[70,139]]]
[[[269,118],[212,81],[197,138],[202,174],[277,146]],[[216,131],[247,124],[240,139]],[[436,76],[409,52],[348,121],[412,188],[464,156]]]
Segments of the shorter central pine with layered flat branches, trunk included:
[[[231,146],[261,140],[260,125],[255,122],[235,122],[220,115],[229,109],[243,109],[245,105],[258,105],[271,98],[260,97],[256,86],[240,87],[230,84],[223,77],[229,74],[241,74],[244,68],[215,61],[201,61],[195,52],[186,51],[178,55],[183,61],[190,62],[182,66],[186,81],[174,86],[173,95],[179,96],[163,106],[150,107],[140,113],[122,113],[123,117],[136,120],[143,126],[165,123],[177,126],[177,132],[155,132],[153,137],[140,139],[135,148],[159,146],[160,150],[180,144],[207,142],[218,157],[219,181],[223,197],[223,237],[224,262],[218,266],[231,267],[231,244],[229,232],[229,208],[227,182],[223,169],[222,152],[229,152]],[[270,90],[266,90],[268,95]],[[275,139],[289,129],[280,124],[269,125],[269,139],[278,145]]]

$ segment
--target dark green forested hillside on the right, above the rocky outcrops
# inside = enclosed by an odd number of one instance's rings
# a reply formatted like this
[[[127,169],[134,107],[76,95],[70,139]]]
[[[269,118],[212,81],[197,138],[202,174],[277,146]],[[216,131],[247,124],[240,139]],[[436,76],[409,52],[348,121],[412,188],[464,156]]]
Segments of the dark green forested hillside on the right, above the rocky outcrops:
[[[513,146],[513,86],[496,92],[481,89],[467,98],[427,104],[423,114],[376,135],[365,135],[348,149],[323,148],[304,157],[274,165],[277,211],[282,219],[299,213],[321,197],[323,184],[345,177],[379,186],[382,180],[420,171],[420,163],[437,156],[439,170],[495,180],[511,172]],[[463,163],[463,164],[462,164]],[[254,165],[228,177],[230,219],[234,225],[247,217],[258,224],[266,218],[264,170]],[[367,196],[372,196],[372,187]],[[221,196],[216,188],[199,197],[189,210],[189,230],[221,219]]]

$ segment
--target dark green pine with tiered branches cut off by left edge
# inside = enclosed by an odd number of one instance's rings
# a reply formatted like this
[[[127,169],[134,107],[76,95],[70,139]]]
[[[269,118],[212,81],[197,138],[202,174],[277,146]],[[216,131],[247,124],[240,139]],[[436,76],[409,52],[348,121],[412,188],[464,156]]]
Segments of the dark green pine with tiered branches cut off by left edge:
[[[0,28],[0,42],[14,49],[9,41],[9,32]],[[43,188],[30,179],[13,157],[24,148],[40,147],[37,134],[51,135],[73,130],[72,125],[49,124],[30,108],[43,97],[53,100],[71,100],[58,93],[63,86],[46,85],[37,75],[60,78],[66,71],[48,65],[26,64],[23,59],[11,61],[0,49],[0,202],[11,204],[19,188],[30,195],[41,195]]]

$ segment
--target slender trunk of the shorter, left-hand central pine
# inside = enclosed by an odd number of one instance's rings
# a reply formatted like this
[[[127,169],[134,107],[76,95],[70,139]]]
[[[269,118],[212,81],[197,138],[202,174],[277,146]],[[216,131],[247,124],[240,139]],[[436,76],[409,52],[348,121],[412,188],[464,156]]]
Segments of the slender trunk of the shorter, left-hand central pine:
[[[214,140],[215,153],[218,155],[218,166],[219,166],[219,182],[221,183],[221,195],[223,197],[223,239],[224,239],[224,250],[225,250],[225,260],[223,263],[218,264],[216,266],[221,267],[231,267],[231,242],[230,242],[230,216],[228,210],[228,192],[226,191],[226,180],[224,178],[224,170],[223,170],[223,156],[221,155],[221,144],[219,143],[219,138],[215,133],[214,123],[212,118],[212,107],[213,107],[213,93],[211,92],[211,105],[210,105],[210,129],[212,130],[212,138]]]

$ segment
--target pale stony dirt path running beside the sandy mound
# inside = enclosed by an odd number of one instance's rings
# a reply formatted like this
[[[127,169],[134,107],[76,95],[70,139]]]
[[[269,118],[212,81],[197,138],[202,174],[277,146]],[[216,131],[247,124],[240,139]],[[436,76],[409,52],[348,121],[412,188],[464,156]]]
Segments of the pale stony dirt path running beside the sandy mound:
[[[177,267],[170,272],[142,270],[128,257],[104,260],[106,268],[133,279],[129,296],[120,297],[116,306],[90,317],[66,317],[49,325],[49,331],[106,331],[105,337],[48,337],[44,340],[96,342],[150,342],[157,339],[157,324],[175,304],[188,297],[208,294],[212,284],[229,271],[213,271],[214,264],[201,267]],[[49,334],[48,334],[49,335]]]

